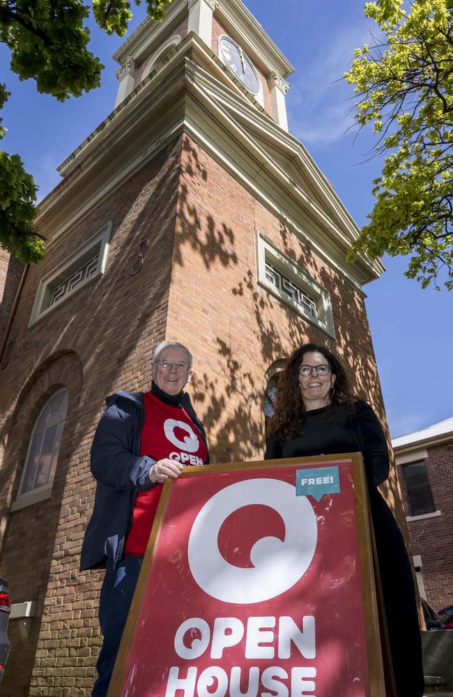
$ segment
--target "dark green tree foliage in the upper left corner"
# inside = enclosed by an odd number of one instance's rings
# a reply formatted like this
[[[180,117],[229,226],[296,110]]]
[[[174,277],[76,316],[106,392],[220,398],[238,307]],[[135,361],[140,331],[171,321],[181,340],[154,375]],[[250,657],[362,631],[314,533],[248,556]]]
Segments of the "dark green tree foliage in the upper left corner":
[[[162,20],[170,2],[147,0],[148,14]],[[128,0],[93,0],[92,8],[108,34],[125,34],[132,17]],[[98,87],[104,66],[89,50],[88,16],[89,7],[80,0],[0,0],[0,41],[10,49],[11,70],[21,80],[34,79],[38,92],[61,102]],[[0,84],[0,109],[8,96]],[[0,139],[4,133],[0,119]],[[45,240],[33,228],[35,201],[36,185],[20,156],[0,151],[0,246],[24,263],[36,263],[44,254]]]

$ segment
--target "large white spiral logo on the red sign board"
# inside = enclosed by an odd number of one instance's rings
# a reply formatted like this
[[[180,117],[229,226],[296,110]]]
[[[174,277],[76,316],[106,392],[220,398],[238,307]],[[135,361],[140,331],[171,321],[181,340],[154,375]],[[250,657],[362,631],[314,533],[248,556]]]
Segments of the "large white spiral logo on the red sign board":
[[[250,552],[252,568],[236,567],[219,551],[222,523],[238,509],[265,505],[281,516],[284,540],[263,537]],[[236,482],[215,493],[201,508],[190,531],[188,559],[195,581],[208,595],[225,603],[270,600],[289,590],[312,562],[318,530],[314,510],[295,487],[272,479]]]

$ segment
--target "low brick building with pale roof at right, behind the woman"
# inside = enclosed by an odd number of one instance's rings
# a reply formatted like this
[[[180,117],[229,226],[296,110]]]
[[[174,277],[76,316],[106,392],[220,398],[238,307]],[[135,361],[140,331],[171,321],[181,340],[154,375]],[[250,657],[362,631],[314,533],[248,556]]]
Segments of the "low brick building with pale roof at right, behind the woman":
[[[453,417],[392,438],[420,595],[453,604]]]

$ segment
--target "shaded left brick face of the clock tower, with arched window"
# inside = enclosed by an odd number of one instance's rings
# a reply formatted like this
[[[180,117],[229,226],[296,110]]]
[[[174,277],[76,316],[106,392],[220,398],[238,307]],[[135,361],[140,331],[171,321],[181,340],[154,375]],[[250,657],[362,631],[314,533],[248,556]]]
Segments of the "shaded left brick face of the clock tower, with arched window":
[[[78,571],[95,493],[89,450],[105,396],[118,388],[149,385],[151,355],[167,321],[180,166],[181,141],[175,141],[51,247],[27,278],[11,332],[15,350],[2,385],[4,403],[11,408],[1,431],[8,436],[1,464],[1,569],[13,602],[38,600],[43,618],[33,620],[26,642],[19,641],[17,622],[10,622],[13,652],[0,695],[29,694],[33,664],[31,695],[91,692],[100,645],[96,608],[102,572]],[[40,277],[107,220],[113,227],[105,274],[27,328]],[[144,265],[132,276],[145,236]],[[52,498],[10,514],[33,422],[56,381],[68,388],[70,402]]]

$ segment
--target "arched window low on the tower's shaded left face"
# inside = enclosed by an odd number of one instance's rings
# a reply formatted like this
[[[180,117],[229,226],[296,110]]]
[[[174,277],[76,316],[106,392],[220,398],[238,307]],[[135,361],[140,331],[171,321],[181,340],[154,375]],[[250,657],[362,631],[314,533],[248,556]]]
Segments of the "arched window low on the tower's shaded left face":
[[[17,498],[11,510],[49,498],[68,411],[68,390],[47,399],[31,431]]]

